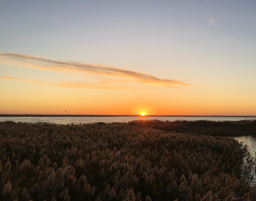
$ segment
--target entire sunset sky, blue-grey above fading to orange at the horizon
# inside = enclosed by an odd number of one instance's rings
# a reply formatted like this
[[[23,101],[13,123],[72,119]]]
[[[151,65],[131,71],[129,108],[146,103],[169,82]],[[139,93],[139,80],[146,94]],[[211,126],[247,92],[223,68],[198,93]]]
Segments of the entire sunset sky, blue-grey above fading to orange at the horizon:
[[[0,0],[0,114],[255,116],[255,10]]]

